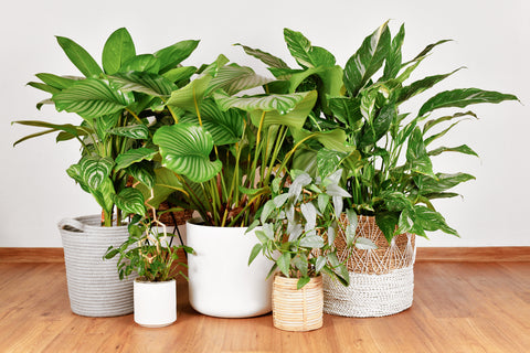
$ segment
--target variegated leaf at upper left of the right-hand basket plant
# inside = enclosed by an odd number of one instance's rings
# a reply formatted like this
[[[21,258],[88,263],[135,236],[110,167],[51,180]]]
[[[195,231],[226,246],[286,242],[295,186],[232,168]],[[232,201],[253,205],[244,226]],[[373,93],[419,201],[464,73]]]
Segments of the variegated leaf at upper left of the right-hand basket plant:
[[[284,29],[287,49],[303,67],[335,66],[335,56],[324,47],[311,46],[311,43],[300,32]]]

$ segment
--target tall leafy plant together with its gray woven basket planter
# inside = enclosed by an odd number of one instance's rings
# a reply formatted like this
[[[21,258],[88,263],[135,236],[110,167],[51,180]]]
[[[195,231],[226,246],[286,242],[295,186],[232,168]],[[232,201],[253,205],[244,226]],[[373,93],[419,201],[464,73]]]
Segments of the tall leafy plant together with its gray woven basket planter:
[[[74,41],[57,36],[57,42],[84,76],[41,73],[36,77],[42,82],[29,85],[51,94],[38,104],[39,109],[51,104],[59,111],[77,114],[81,121],[14,121],[43,128],[14,145],[55,132],[57,142],[80,142],[81,159],[67,173],[94,196],[103,212],[102,217],[67,218],[59,224],[72,311],[89,317],[127,314],[132,311],[132,281],[119,281],[114,275],[116,263],[102,258],[109,245],[128,238],[126,216],[146,212],[145,196],[128,181],[132,178],[147,186],[155,183],[152,160],[158,151],[150,143],[150,129],[161,124],[159,116],[163,116],[163,101],[171,90],[194,73],[194,67],[180,63],[198,41],[137,55],[127,30],[119,29],[105,43],[103,66]]]

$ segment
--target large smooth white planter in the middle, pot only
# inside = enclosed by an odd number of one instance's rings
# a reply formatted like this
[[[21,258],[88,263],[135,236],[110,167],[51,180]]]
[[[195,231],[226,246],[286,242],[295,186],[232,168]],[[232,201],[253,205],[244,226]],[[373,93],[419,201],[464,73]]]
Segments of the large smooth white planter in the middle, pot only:
[[[219,318],[250,318],[272,310],[272,261],[248,256],[258,243],[245,227],[212,227],[200,220],[187,223],[190,303],[197,311]]]

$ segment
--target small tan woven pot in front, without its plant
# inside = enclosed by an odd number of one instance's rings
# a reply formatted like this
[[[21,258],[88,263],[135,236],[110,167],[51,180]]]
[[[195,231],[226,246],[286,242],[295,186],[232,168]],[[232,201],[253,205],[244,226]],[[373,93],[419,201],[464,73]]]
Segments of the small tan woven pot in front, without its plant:
[[[311,331],[322,327],[322,276],[296,289],[298,278],[274,277],[273,322],[285,331]]]

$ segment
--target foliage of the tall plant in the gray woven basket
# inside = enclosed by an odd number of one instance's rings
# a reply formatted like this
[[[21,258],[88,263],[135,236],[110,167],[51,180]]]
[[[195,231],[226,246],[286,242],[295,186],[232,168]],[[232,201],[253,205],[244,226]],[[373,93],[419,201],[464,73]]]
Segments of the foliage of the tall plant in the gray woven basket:
[[[144,214],[145,197],[129,188],[130,176],[153,185],[151,161],[158,153],[150,143],[152,127],[160,124],[165,100],[173,89],[189,82],[195,67],[181,66],[198,45],[198,41],[181,41],[155,54],[136,54],[126,29],[115,31],[106,41],[102,63],[74,41],[57,36],[57,42],[84,77],[36,74],[42,82],[30,86],[50,93],[51,98],[38,105],[53,104],[59,111],[77,114],[82,120],[74,124],[52,124],[36,120],[14,121],[44,128],[26,139],[59,132],[56,140],[76,139],[82,158],[67,173],[81,188],[91,193],[103,208],[105,226],[121,223],[125,214]],[[148,119],[148,117],[152,117]],[[153,121],[157,120],[157,121]]]

